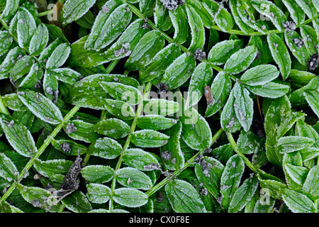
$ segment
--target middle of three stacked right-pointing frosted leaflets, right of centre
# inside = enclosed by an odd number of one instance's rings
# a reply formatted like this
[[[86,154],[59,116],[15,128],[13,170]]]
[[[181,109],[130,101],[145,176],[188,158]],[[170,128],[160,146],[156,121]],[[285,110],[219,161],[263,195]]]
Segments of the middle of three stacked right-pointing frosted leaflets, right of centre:
[[[247,85],[263,85],[271,82],[279,76],[279,71],[274,65],[259,65],[247,70],[240,80]]]

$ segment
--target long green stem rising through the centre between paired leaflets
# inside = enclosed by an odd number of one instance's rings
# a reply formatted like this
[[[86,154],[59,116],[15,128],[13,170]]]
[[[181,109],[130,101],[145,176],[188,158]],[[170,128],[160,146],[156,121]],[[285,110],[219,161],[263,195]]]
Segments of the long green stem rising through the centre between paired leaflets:
[[[128,137],[126,138],[125,144],[123,146],[123,150],[122,153],[120,155],[120,157],[118,158],[118,162],[116,164],[116,167],[114,169],[114,177],[112,179],[112,183],[111,183],[111,192],[113,194],[114,190],[116,189],[116,172],[121,168],[122,162],[123,162],[123,155],[125,153],[125,150],[128,149],[128,146],[130,145],[130,139],[131,139],[131,133],[133,133],[135,131],[136,128],[136,123],[138,122],[138,116],[140,116],[140,114],[142,114],[142,110],[143,110],[143,100],[147,99],[149,93],[150,93],[150,89],[152,88],[152,83],[148,82],[146,84],[146,87],[144,89],[144,94],[142,96],[142,100],[140,101],[140,104],[138,105],[138,109],[135,112],[135,117],[133,120],[132,125],[130,126],[130,134],[128,135]],[[111,212],[113,210],[113,199],[111,198],[109,201],[109,211]]]

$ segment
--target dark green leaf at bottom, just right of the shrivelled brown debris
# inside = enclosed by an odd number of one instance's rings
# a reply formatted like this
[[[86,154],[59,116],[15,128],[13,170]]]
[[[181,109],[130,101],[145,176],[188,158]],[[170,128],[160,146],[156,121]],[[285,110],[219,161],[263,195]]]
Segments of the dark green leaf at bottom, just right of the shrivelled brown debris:
[[[62,204],[74,213],[87,213],[92,210],[89,200],[86,198],[85,194],[80,191],[75,191],[65,197],[65,199],[62,199]]]

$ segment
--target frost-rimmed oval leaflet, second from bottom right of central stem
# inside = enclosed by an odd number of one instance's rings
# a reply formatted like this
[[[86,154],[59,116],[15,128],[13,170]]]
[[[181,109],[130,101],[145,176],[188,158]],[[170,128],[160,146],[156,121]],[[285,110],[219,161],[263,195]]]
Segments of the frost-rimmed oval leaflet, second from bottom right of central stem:
[[[133,189],[150,190],[152,181],[144,172],[132,167],[121,168],[116,171],[116,180],[124,187]]]

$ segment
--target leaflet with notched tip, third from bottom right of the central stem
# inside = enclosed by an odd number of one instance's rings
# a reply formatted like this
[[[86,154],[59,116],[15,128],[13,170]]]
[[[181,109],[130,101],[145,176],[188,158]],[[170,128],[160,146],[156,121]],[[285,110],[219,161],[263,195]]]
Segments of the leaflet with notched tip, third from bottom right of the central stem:
[[[148,170],[147,165],[160,166],[155,156],[139,148],[125,150],[123,162],[130,167],[145,171]]]

